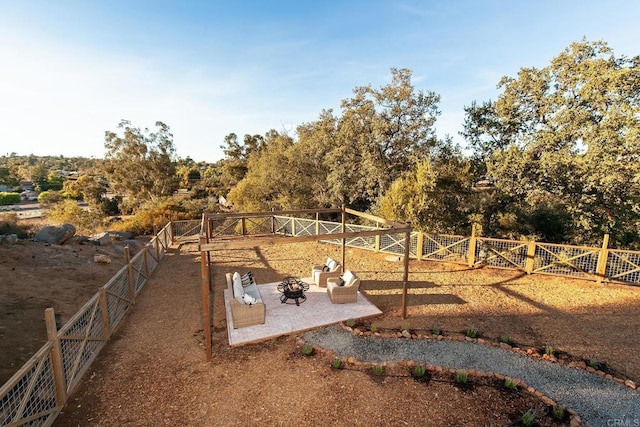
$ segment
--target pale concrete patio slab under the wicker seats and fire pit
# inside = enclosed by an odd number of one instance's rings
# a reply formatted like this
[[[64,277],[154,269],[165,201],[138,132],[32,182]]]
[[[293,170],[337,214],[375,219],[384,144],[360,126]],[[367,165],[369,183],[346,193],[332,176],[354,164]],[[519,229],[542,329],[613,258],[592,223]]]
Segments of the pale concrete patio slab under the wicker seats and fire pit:
[[[303,278],[302,280],[307,283],[313,283],[311,277]],[[283,304],[280,302],[282,294],[276,288],[279,283],[273,282],[258,285],[260,295],[266,306],[265,323],[238,329],[233,328],[228,290],[225,289],[224,301],[230,346],[235,347],[264,341],[348,319],[368,318],[382,314],[382,311],[369,302],[361,292],[358,292],[358,300],[355,303],[332,304],[326,288],[320,288],[313,284],[305,292],[307,300],[300,306]]]

